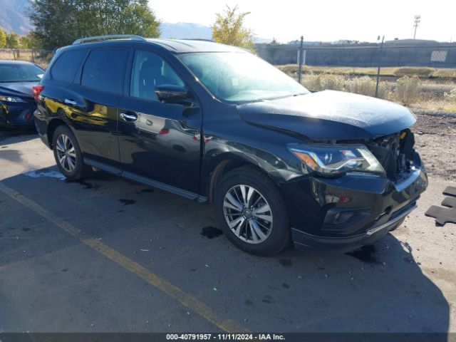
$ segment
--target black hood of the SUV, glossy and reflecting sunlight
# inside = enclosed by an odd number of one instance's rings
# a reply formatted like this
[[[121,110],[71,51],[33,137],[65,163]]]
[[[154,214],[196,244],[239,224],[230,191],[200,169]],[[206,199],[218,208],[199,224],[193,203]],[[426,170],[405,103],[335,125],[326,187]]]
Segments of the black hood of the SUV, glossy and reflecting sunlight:
[[[416,121],[402,105],[334,90],[246,103],[237,109],[248,123],[311,140],[371,139],[397,133]]]

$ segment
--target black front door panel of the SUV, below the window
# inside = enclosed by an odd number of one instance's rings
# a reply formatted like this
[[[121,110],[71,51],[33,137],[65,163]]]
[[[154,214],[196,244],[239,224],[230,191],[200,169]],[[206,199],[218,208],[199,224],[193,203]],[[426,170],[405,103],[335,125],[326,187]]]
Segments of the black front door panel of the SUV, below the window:
[[[121,99],[119,108],[120,113],[138,117],[135,122],[119,118],[121,168],[197,193],[202,123],[199,108],[130,97]]]

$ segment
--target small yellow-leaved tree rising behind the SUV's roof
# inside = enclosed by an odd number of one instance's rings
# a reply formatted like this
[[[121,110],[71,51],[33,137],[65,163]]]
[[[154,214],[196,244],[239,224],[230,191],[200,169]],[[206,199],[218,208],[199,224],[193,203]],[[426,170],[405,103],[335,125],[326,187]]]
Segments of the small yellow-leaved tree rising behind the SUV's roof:
[[[250,12],[237,13],[238,6],[226,6],[222,14],[216,14],[217,19],[211,27],[214,41],[233,46],[254,46],[252,30],[244,28],[244,18]]]

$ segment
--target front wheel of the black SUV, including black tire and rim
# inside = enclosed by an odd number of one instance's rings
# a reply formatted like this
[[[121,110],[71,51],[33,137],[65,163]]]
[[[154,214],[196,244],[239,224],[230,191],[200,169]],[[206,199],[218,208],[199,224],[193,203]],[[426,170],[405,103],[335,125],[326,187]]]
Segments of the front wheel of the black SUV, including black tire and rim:
[[[224,176],[215,190],[214,210],[229,241],[246,252],[271,256],[291,242],[281,192],[254,167],[241,167]]]

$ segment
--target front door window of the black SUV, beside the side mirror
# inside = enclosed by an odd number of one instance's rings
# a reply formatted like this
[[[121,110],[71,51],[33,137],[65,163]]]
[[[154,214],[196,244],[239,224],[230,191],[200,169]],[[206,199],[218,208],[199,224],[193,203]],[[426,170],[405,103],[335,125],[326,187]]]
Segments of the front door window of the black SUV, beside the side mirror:
[[[157,101],[155,87],[160,84],[184,86],[171,66],[155,53],[136,51],[131,73],[130,95]]]

